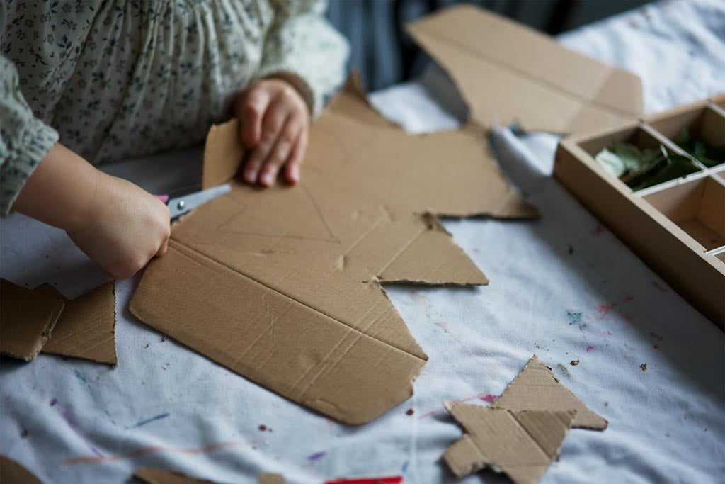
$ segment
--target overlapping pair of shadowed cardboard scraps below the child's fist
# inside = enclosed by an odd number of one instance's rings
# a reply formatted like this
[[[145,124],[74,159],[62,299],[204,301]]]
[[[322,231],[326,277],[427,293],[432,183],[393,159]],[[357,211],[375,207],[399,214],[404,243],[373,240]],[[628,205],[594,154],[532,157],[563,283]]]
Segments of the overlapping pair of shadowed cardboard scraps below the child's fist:
[[[43,353],[115,365],[114,283],[67,300],[49,284],[30,290],[0,281],[0,353],[31,361]]]

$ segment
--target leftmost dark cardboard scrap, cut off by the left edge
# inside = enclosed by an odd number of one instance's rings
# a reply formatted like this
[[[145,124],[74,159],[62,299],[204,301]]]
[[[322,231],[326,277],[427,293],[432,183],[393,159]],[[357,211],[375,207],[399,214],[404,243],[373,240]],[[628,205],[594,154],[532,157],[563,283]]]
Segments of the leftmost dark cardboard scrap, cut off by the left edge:
[[[0,279],[0,353],[30,361],[48,340],[63,301]]]

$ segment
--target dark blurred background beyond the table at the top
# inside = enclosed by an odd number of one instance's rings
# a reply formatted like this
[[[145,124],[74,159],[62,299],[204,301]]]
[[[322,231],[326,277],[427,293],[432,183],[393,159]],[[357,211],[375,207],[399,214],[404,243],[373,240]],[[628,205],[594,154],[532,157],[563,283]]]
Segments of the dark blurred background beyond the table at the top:
[[[453,4],[476,4],[556,35],[651,0],[330,0],[328,18],[350,41],[349,67],[363,75],[369,91],[418,75],[426,56],[402,25]]]

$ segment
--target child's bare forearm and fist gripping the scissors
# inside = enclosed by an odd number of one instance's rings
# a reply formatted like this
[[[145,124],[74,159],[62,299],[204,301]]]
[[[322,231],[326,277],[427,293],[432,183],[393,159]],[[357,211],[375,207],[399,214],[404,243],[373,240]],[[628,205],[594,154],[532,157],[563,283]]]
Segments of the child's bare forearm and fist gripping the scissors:
[[[163,202],[59,143],[25,182],[13,208],[64,229],[116,279],[133,276],[167,250],[170,218]]]

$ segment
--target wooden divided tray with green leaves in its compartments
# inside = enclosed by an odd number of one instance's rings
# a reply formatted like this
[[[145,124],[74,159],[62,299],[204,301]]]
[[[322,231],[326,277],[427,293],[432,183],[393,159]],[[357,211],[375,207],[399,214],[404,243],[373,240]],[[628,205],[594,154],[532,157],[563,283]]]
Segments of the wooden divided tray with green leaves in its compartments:
[[[725,160],[705,165],[676,140],[725,146],[725,94],[559,143],[554,176],[645,263],[725,329]],[[635,190],[595,160],[626,142],[692,161],[692,173]],[[686,321],[683,321],[686,322]]]

